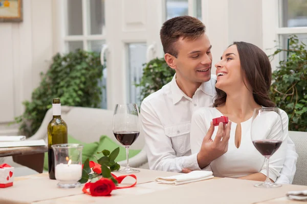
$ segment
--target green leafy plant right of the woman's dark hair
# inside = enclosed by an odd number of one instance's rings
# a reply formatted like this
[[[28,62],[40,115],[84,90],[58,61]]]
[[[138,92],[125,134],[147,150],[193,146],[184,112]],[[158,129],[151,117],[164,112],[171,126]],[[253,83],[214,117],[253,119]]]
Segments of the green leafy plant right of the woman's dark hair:
[[[272,57],[286,52],[273,72],[270,97],[289,116],[289,130],[307,132],[307,50],[297,36],[289,38],[288,49],[277,49]]]

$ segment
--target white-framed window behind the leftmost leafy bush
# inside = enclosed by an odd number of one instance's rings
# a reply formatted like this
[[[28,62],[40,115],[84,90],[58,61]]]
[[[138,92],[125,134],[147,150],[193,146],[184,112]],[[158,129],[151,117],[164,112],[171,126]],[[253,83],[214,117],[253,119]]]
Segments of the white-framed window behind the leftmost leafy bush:
[[[65,52],[101,52],[105,45],[104,0],[65,0]],[[101,108],[106,108],[106,69],[101,81]]]

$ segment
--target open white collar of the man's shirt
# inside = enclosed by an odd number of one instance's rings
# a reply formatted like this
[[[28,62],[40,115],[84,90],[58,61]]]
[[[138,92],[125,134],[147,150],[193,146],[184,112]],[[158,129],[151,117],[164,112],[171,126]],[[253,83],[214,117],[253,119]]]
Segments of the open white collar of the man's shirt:
[[[171,94],[172,94],[172,101],[173,104],[177,104],[182,97],[187,98],[188,100],[191,100],[191,98],[189,96],[187,96],[178,86],[177,82],[176,82],[176,73],[174,74],[171,82],[170,82],[170,89],[171,89]],[[213,88],[212,88],[212,84],[211,84],[211,80],[209,80],[208,82],[204,82],[201,84],[201,86],[196,90],[196,92],[198,90],[202,90],[205,94],[208,94],[210,96],[213,96]],[[195,92],[195,93],[196,93]]]

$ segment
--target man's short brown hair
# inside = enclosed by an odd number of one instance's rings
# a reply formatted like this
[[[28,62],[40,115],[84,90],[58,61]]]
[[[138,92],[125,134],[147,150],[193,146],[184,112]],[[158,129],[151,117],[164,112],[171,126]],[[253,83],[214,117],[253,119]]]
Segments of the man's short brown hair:
[[[191,16],[178,16],[165,21],[160,30],[160,38],[164,53],[177,58],[178,50],[174,43],[179,38],[194,40],[206,31],[202,21]]]

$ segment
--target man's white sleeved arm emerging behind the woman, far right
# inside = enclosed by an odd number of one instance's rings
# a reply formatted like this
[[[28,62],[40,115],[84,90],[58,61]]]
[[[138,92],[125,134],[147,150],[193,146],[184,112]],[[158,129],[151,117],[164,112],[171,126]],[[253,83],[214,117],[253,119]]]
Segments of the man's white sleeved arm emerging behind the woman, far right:
[[[298,155],[295,151],[294,142],[288,136],[286,158],[283,162],[280,176],[277,178],[276,183],[278,184],[292,184],[294,174],[296,171],[296,162]]]

